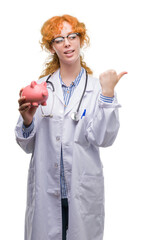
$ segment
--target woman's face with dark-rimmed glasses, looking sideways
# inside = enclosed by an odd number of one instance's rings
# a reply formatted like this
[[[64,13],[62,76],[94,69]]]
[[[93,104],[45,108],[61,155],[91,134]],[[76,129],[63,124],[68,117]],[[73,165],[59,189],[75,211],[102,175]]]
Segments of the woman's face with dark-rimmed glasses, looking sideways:
[[[71,33],[73,33],[72,26],[64,22],[61,33],[54,38],[67,37]],[[73,64],[80,61],[80,37],[69,35],[63,41],[53,41],[51,52],[57,54],[60,64]]]

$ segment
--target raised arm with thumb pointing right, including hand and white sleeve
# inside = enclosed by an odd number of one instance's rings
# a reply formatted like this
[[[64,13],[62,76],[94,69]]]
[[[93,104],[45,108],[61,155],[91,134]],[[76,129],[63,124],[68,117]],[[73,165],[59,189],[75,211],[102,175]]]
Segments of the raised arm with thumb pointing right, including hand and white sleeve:
[[[92,119],[87,121],[87,139],[92,144],[99,147],[107,147],[113,144],[119,130],[119,115],[116,95],[114,88],[120,78],[126,74],[122,72],[119,75],[114,70],[109,70],[100,75],[100,84],[102,95],[97,99],[95,111]],[[114,97],[112,102],[104,99]]]

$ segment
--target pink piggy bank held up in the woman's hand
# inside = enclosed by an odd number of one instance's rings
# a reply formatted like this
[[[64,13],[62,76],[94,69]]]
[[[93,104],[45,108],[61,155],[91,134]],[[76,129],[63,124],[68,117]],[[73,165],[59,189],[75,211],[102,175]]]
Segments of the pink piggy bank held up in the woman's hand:
[[[35,81],[31,82],[30,85],[23,89],[22,96],[25,96],[26,102],[31,102],[32,106],[37,107],[39,104],[46,106],[48,98],[47,83],[37,84]]]

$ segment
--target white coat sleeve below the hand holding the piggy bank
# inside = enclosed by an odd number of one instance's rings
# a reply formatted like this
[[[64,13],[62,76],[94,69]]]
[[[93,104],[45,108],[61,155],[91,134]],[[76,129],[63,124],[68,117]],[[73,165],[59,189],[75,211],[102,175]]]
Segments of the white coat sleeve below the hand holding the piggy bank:
[[[24,138],[23,136],[22,126],[23,126],[23,119],[20,116],[15,128],[16,141],[26,153],[32,153],[34,149],[34,143],[35,143],[35,132],[36,132],[35,126],[27,138]]]

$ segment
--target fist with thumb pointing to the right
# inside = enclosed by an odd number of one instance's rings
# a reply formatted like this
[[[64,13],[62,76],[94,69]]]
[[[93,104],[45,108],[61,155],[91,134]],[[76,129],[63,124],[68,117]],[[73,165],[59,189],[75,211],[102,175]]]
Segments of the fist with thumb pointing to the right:
[[[108,70],[101,73],[99,79],[102,87],[102,94],[107,97],[113,97],[116,84],[125,74],[127,74],[127,72],[121,72],[117,75],[115,70]]]

